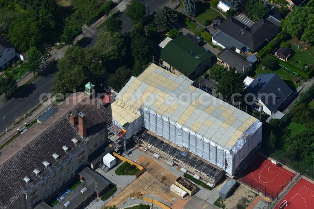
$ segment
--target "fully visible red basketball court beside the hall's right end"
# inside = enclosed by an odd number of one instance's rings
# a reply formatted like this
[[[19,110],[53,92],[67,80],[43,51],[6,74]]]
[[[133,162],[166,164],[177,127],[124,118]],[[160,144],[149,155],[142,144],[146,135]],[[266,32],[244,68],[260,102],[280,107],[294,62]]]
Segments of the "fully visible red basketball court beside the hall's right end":
[[[277,197],[295,174],[258,155],[239,179],[270,198]]]

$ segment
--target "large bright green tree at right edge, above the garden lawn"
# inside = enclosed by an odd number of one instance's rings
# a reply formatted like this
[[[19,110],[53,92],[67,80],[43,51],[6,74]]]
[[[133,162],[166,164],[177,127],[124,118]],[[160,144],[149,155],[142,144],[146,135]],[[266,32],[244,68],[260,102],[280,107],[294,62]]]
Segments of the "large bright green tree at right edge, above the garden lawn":
[[[282,27],[301,41],[313,42],[314,8],[295,7],[284,20]]]

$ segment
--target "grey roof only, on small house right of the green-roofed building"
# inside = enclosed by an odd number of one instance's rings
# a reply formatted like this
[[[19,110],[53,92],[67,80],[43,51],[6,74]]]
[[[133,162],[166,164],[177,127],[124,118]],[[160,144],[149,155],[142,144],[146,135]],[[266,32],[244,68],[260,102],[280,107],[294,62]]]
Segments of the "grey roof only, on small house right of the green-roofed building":
[[[217,55],[217,58],[224,61],[231,67],[235,67],[238,72],[243,72],[243,67],[245,71],[247,68],[249,68],[252,65],[252,63],[244,59],[244,57],[238,55],[237,53],[227,48],[221,51]]]

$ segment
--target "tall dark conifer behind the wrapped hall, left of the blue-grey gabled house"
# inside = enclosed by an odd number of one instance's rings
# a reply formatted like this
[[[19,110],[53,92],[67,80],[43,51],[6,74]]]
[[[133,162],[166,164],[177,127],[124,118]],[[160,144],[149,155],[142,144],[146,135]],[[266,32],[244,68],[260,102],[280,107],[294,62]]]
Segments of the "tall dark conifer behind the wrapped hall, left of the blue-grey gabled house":
[[[227,98],[230,102],[234,99],[235,102],[243,101],[244,83],[243,74],[236,72],[233,68],[228,70],[218,82],[218,90],[222,94],[221,97]],[[242,94],[242,96],[234,95]],[[233,97],[234,96],[234,97]]]

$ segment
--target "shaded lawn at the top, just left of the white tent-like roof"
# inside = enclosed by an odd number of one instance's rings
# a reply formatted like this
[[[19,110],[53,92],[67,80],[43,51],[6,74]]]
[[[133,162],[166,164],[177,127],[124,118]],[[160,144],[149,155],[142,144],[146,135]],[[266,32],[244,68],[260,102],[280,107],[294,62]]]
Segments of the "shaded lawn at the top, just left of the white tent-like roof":
[[[202,25],[211,24],[212,20],[217,16],[224,18],[219,12],[211,8],[209,3],[198,1],[196,7],[197,16],[195,17],[195,20]]]

